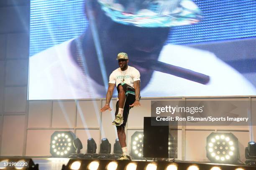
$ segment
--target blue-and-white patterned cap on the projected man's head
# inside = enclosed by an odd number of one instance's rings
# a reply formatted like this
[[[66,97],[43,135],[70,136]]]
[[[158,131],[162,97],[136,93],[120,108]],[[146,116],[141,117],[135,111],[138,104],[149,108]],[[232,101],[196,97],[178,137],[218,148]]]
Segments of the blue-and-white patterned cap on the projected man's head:
[[[138,27],[171,27],[200,21],[192,0],[98,0],[113,21]]]

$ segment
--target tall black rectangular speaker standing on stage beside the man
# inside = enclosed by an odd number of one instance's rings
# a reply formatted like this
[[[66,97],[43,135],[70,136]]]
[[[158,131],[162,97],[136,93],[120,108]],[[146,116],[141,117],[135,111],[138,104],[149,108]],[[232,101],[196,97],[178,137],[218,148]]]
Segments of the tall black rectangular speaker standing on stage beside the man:
[[[143,157],[169,157],[169,126],[151,126],[151,117],[144,117],[143,134]]]

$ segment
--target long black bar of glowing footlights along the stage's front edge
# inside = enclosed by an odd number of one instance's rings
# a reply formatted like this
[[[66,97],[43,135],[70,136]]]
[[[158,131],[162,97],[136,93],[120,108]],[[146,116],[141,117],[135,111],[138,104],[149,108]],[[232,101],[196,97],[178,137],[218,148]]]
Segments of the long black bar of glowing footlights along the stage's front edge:
[[[80,162],[74,166],[74,162]],[[70,168],[73,164],[74,168]],[[77,163],[76,163],[77,164]],[[79,169],[78,169],[79,168]],[[253,166],[246,165],[212,165],[206,162],[146,162],[146,161],[123,161],[123,160],[90,160],[69,159],[67,165],[61,170],[255,170]]]

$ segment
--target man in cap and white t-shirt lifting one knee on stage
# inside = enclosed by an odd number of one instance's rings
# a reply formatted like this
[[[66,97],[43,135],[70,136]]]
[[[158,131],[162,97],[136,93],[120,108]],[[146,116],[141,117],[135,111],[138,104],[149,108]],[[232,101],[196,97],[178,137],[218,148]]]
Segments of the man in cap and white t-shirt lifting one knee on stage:
[[[120,68],[114,70],[109,77],[106,104],[100,112],[112,110],[109,106],[116,84],[118,90],[118,101],[116,103],[115,120],[112,122],[116,126],[118,139],[123,150],[123,155],[119,160],[131,160],[126,146],[125,125],[128,119],[129,110],[132,107],[140,106],[140,73],[134,67],[128,66],[128,55],[118,53],[118,65]]]

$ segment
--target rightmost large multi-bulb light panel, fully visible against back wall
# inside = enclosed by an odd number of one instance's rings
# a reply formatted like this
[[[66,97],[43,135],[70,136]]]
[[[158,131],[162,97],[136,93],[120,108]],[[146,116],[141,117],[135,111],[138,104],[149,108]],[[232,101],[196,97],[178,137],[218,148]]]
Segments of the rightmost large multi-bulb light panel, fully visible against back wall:
[[[207,137],[207,158],[216,163],[235,163],[238,160],[238,139],[232,133],[214,133]]]

